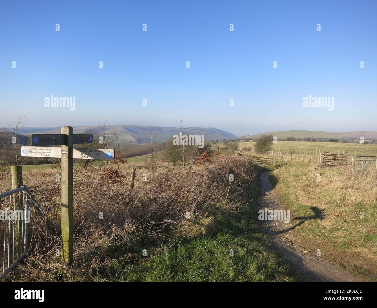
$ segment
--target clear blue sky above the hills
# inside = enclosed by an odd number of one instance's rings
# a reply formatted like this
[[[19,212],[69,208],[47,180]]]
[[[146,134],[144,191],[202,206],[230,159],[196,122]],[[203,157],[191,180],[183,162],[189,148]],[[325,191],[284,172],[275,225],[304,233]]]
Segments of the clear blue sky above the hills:
[[[377,130],[376,13],[376,1],[2,1],[0,125]],[[75,111],[44,108],[51,95]],[[303,108],[309,95],[334,110]]]

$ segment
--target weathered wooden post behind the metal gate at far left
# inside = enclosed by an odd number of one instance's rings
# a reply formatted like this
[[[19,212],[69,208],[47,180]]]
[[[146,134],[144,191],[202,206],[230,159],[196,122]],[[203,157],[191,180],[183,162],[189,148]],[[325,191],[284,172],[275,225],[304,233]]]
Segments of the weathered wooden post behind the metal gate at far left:
[[[22,183],[22,166],[11,166],[12,171],[12,189],[20,188]],[[20,198],[18,197],[18,194],[15,194],[15,200],[14,200],[14,209],[17,211],[17,217],[20,210]],[[12,205],[9,205],[10,209],[12,209]],[[21,209],[23,210],[23,204]],[[21,230],[20,230],[21,227]],[[21,234],[21,238],[20,238]],[[22,225],[20,224],[20,220],[14,220],[14,238],[17,241],[17,257],[21,255],[23,251],[22,247]]]

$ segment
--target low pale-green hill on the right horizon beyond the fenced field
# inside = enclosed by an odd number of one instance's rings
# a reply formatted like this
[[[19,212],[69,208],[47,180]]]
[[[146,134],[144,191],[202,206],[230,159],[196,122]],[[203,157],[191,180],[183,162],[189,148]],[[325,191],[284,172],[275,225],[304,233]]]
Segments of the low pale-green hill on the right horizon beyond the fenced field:
[[[360,137],[364,137],[365,140],[377,140],[377,132],[374,131],[356,131],[356,132],[322,132],[322,131],[312,131],[312,130],[281,130],[277,132],[265,132],[256,135],[247,135],[242,137],[242,140],[253,139],[257,140],[261,138],[262,135],[273,135],[278,139],[286,139],[287,137],[294,137],[296,139],[301,138],[323,138],[323,139],[339,139],[339,141],[344,140],[360,140]]]

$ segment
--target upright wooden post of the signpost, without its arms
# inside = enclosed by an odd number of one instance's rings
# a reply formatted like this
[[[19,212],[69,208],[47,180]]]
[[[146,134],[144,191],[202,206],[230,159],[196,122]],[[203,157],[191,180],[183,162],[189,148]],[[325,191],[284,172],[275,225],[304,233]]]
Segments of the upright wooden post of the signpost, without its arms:
[[[71,265],[73,261],[73,128],[61,127],[61,134],[66,136],[65,144],[60,146],[61,259]]]

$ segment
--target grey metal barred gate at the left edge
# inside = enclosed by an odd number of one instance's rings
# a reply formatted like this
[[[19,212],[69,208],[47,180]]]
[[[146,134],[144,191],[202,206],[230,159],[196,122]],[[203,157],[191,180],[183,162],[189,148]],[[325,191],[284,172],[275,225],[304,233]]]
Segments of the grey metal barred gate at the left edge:
[[[46,214],[26,186],[0,194],[0,279],[26,255],[30,202],[39,214]]]

